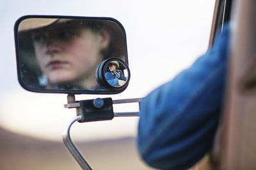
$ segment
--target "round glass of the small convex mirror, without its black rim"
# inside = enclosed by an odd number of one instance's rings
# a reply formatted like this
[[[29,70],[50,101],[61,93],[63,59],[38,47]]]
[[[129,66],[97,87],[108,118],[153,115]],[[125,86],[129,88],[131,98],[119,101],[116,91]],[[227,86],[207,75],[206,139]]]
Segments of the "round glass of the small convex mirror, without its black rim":
[[[123,87],[129,78],[129,71],[122,62],[111,60],[104,68],[104,76],[111,87]]]

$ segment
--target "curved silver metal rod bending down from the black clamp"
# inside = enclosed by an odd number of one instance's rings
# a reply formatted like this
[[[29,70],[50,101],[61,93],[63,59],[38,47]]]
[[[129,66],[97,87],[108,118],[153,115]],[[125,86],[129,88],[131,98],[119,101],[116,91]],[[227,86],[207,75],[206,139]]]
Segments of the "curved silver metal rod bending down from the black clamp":
[[[81,153],[79,153],[79,151],[77,150],[76,146],[74,145],[74,143],[72,142],[72,140],[70,138],[70,127],[72,126],[72,124],[74,124],[74,122],[81,120],[81,118],[82,118],[82,116],[77,116],[68,124],[67,129],[65,129],[65,131],[63,131],[63,133],[62,133],[62,139],[63,139],[63,142],[64,142],[65,146],[67,147],[68,151],[71,153],[71,155],[74,157],[74,159],[76,159],[76,162],[81,166],[81,168],[92,170],[92,168],[89,166],[89,164],[83,158]]]

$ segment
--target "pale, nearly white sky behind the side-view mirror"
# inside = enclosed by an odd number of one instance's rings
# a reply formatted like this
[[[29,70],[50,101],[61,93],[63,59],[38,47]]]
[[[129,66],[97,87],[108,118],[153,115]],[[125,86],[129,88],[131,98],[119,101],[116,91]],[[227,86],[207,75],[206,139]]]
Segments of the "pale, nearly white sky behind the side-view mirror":
[[[17,80],[13,26],[24,15],[112,17],[125,29],[131,80],[121,94],[77,95],[76,100],[112,97],[129,99],[147,94],[189,67],[209,43],[214,1],[20,1],[0,3],[0,127],[35,138],[61,140],[76,110],[64,108],[67,94],[28,92]],[[138,111],[136,104],[114,106],[114,111]],[[76,123],[76,140],[136,136],[138,117]]]

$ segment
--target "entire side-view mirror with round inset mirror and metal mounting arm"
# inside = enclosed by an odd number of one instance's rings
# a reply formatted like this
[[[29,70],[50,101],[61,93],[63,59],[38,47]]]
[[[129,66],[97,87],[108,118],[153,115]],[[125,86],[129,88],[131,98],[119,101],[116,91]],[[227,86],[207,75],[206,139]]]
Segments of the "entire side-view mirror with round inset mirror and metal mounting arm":
[[[124,27],[113,18],[24,16],[15,23],[19,83],[33,92],[68,94],[65,108],[76,108],[63,142],[82,169],[92,169],[70,138],[74,122],[138,117],[139,112],[113,111],[113,104],[141,99],[110,97],[76,101],[75,94],[118,94],[129,84]]]

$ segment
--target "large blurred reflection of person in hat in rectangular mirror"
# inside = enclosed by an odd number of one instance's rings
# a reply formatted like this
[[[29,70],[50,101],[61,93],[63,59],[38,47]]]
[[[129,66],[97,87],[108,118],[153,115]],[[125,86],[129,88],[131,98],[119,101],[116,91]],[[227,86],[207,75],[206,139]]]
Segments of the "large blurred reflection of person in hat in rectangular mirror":
[[[36,25],[36,21],[42,25]],[[23,22],[27,23],[20,24],[19,29],[28,27],[25,31],[31,34],[42,71],[40,87],[97,89],[95,70],[105,56],[113,56],[108,52],[113,52],[110,48],[115,46],[106,22],[57,18],[30,18]]]

